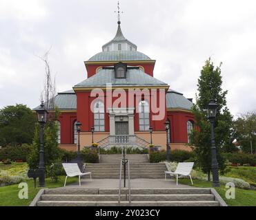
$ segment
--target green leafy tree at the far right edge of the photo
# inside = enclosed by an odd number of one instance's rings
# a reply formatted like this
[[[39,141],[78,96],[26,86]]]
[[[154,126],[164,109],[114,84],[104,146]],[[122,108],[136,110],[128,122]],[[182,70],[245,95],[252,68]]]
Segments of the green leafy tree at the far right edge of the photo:
[[[256,112],[239,115],[234,122],[235,137],[244,153],[256,153]]]

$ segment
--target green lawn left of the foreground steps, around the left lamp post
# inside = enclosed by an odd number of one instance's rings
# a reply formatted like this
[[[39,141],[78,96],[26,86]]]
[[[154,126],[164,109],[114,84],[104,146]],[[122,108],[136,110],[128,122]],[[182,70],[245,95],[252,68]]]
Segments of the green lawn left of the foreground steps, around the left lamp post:
[[[64,184],[65,177],[59,177],[57,183],[52,182],[51,179],[46,179],[46,188],[57,188],[61,187]],[[26,181],[28,183],[28,199],[19,199],[18,194],[20,188],[18,184],[12,186],[2,186],[0,187],[0,206],[29,206],[31,201],[37,195],[37,192],[41,188],[34,188],[34,181],[32,179]],[[77,177],[68,178],[67,184],[77,182]],[[38,179],[37,179],[38,185]]]

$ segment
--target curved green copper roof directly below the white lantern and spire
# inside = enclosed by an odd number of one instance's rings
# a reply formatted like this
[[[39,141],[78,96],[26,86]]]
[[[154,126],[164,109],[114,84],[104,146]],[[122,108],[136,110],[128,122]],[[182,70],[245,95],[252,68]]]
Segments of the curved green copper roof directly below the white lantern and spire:
[[[100,52],[89,61],[150,61],[151,59],[145,54],[138,51],[117,50],[110,52]]]

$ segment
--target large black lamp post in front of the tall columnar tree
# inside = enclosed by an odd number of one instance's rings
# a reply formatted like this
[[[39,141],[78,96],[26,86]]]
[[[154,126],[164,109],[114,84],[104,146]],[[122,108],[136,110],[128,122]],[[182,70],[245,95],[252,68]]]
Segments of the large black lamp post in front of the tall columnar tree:
[[[219,165],[217,162],[217,152],[215,145],[215,132],[214,132],[214,122],[216,118],[218,104],[216,100],[210,100],[208,104],[208,119],[210,120],[210,133],[211,133],[211,143],[212,143],[212,173],[213,173],[213,186],[219,187]]]

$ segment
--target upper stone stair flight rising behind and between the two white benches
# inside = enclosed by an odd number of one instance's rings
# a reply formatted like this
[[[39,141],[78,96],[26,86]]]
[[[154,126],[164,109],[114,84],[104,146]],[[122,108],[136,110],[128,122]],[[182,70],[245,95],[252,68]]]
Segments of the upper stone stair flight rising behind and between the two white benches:
[[[130,154],[126,158],[130,160],[130,179],[164,179],[165,164],[152,164],[144,154]],[[92,179],[119,179],[120,159],[121,155],[101,155],[99,164],[86,164],[86,172],[92,173]]]

